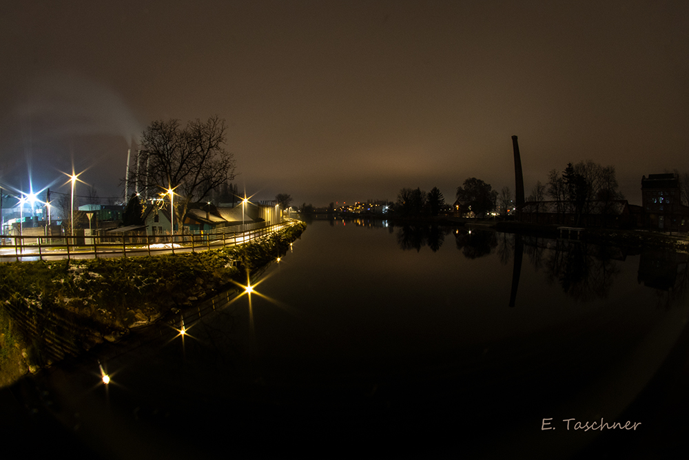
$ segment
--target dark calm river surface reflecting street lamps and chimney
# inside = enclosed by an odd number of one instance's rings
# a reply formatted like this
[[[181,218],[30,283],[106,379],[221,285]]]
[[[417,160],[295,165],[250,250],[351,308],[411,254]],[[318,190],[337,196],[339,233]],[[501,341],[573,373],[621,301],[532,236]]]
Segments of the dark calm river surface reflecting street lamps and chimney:
[[[127,459],[686,448],[686,254],[314,221],[251,283],[184,337],[180,316],[3,390],[3,438]]]

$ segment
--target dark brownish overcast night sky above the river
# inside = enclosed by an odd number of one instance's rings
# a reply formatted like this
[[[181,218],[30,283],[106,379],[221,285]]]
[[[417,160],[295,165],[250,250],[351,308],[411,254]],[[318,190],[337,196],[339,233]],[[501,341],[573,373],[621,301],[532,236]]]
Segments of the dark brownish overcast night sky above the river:
[[[89,168],[122,193],[154,119],[229,126],[236,182],[296,203],[395,200],[553,168],[689,170],[686,1],[33,1],[0,6],[0,181]]]

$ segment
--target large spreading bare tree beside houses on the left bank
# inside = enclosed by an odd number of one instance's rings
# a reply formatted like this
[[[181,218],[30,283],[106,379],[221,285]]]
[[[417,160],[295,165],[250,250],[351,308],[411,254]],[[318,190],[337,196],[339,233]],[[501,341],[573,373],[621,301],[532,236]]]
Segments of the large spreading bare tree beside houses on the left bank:
[[[141,137],[142,150],[132,163],[129,181],[148,197],[174,191],[174,216],[181,227],[189,203],[203,201],[234,179],[234,154],[225,150],[225,120],[154,121]]]

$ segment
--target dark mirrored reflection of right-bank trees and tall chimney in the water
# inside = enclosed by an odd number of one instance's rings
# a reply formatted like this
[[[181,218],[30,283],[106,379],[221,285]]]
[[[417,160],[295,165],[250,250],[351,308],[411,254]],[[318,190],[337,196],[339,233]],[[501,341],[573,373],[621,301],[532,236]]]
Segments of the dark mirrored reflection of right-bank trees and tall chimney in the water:
[[[548,284],[557,285],[579,302],[607,299],[620,273],[619,263],[629,250],[601,246],[585,241],[551,239],[530,235],[497,233],[490,230],[450,228],[423,223],[398,226],[397,242],[402,250],[419,252],[425,246],[440,250],[446,234],[453,234],[457,250],[466,259],[478,259],[497,252],[500,263],[513,260],[513,277],[509,306],[515,306],[522,259],[545,275]],[[639,283],[659,292],[659,303],[671,303],[686,297],[688,285],[687,254],[663,251],[641,252]]]

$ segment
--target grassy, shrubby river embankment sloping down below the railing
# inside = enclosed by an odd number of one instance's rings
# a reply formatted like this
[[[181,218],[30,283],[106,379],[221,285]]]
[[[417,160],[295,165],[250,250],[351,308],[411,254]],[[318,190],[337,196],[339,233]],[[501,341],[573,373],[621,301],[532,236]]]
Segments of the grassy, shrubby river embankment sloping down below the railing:
[[[0,264],[0,387],[245,283],[305,228],[190,254]]]

